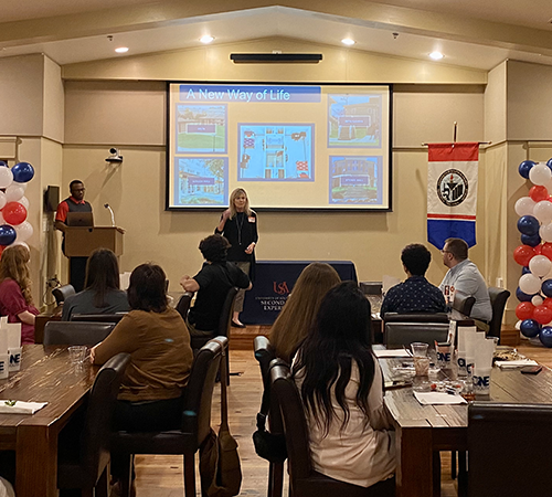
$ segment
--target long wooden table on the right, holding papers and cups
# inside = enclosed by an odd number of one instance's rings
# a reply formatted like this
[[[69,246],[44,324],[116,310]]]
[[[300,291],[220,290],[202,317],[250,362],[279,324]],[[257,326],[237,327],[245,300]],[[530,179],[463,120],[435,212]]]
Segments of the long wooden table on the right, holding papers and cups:
[[[397,362],[402,360],[380,359],[386,379],[393,378],[392,367]],[[518,369],[495,367],[490,395],[476,400],[551,403],[552,370],[543,367],[539,374],[529,376],[521,374]],[[467,451],[467,405],[421,405],[411,387],[388,390],[385,405],[395,426],[397,497],[439,496],[438,452]]]

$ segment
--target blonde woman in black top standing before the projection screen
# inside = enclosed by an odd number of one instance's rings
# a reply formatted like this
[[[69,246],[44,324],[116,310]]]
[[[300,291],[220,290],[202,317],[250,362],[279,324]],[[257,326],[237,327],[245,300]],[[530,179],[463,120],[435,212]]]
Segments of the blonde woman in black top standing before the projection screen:
[[[225,236],[232,245],[229,248],[227,261],[235,263],[250,276],[255,264],[255,246],[258,241],[257,214],[250,209],[250,200],[243,188],[236,188],[230,195],[230,208],[222,213],[221,222],[214,232]],[[232,318],[232,326],[237,328],[245,328],[245,325],[240,321],[244,297],[245,290],[241,289]]]

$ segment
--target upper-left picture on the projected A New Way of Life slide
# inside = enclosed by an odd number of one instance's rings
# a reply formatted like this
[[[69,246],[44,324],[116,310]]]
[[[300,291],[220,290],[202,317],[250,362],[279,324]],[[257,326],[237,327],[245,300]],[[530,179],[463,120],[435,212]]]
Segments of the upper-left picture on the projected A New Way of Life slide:
[[[226,106],[178,105],[177,152],[225,154]]]

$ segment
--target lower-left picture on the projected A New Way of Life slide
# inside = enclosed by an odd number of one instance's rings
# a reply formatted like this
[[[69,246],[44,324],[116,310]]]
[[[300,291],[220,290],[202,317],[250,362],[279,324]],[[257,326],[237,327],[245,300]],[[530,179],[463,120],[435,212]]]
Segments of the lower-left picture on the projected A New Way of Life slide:
[[[229,160],[216,157],[177,157],[176,198],[181,205],[227,205]]]

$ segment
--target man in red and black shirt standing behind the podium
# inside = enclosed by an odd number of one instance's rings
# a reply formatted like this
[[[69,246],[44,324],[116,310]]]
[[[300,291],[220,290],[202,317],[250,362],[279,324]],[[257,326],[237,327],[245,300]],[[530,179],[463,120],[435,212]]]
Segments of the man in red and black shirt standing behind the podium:
[[[92,222],[92,205],[84,200],[84,183],[81,180],[73,180],[70,183],[71,197],[60,202],[55,213],[55,228],[63,233],[62,251],[65,254],[65,231],[71,225],[85,225],[83,223]],[[71,214],[70,213],[75,213]],[[79,215],[82,220],[79,220]],[[74,219],[74,223],[67,220]],[[84,289],[84,279],[86,276],[86,261],[88,257],[70,257],[70,283],[75,292]]]

